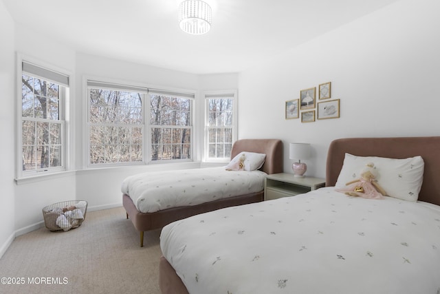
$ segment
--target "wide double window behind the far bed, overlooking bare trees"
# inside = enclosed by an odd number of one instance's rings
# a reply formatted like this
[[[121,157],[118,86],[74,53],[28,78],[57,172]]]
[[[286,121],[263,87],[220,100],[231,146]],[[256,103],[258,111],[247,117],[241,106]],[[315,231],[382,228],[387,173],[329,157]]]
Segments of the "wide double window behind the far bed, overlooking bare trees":
[[[97,81],[87,86],[89,165],[192,158],[194,94]]]

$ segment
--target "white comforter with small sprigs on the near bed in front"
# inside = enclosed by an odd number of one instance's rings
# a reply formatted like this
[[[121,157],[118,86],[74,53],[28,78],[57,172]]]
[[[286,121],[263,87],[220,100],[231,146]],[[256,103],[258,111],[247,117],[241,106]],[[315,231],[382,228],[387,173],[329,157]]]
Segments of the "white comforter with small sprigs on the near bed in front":
[[[168,224],[191,294],[440,293],[440,207],[327,187]]]

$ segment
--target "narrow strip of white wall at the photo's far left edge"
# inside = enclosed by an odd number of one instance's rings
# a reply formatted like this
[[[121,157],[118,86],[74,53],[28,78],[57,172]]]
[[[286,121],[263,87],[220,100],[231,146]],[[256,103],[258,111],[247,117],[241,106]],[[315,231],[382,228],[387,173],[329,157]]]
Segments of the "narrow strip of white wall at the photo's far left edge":
[[[0,1],[0,257],[14,240],[14,21]]]

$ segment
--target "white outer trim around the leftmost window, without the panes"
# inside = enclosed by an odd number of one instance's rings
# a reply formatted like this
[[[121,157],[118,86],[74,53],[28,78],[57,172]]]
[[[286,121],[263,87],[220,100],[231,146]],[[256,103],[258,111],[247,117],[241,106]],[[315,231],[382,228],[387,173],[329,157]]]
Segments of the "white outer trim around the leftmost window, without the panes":
[[[22,54],[20,52],[16,53],[16,94],[15,94],[15,108],[16,108],[16,115],[17,115],[17,120],[16,120],[16,144],[17,144],[17,148],[16,148],[16,165],[15,165],[15,174],[16,174],[16,178],[15,180],[17,182],[19,182],[20,180],[23,179],[27,179],[27,178],[44,178],[45,176],[53,176],[54,174],[60,174],[63,173],[65,171],[69,170],[70,167],[70,162],[72,160],[72,154],[71,154],[71,148],[69,148],[69,138],[72,134],[72,129],[70,129],[69,127],[69,112],[71,109],[71,94],[72,94],[72,87],[74,85],[74,78],[73,78],[73,74],[72,72],[70,72],[69,70],[66,70],[65,68],[62,67],[58,67],[56,65],[52,65],[52,63],[47,63],[45,61],[41,61],[40,59],[35,59],[32,56],[28,56],[25,54]],[[30,63],[32,65],[36,65],[37,67],[41,67],[42,69],[45,70],[50,70],[52,72],[58,72],[63,74],[64,76],[67,76],[67,78],[69,79],[69,87],[65,87],[65,93],[64,93],[64,99],[62,102],[62,106],[60,107],[60,112],[63,112],[63,129],[62,129],[62,142],[63,142],[63,147],[62,147],[62,154],[61,156],[63,156],[62,160],[63,160],[63,167],[52,167],[51,169],[45,170],[45,171],[23,171],[23,169],[21,168],[23,166],[23,159],[21,157],[22,154],[22,111],[23,111],[23,107],[21,105],[21,87],[22,87],[22,82],[21,82],[21,76],[23,74],[23,62],[26,63]],[[38,76],[38,75],[35,75]],[[43,77],[46,80],[51,81],[50,78],[46,78]]]

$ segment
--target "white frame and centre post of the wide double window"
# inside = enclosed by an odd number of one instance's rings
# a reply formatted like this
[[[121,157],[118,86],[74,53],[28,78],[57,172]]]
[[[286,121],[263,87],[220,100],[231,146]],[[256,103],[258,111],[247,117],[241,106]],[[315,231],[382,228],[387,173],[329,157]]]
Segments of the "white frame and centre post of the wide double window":
[[[143,147],[142,147],[142,160],[138,162],[108,162],[108,163],[94,163],[90,162],[90,97],[89,97],[89,82],[94,82],[102,85],[109,85],[107,88],[111,88],[113,90],[130,90],[131,92],[141,91],[142,92],[142,124],[136,125],[138,127],[142,127],[142,136],[143,136]],[[102,167],[123,167],[130,165],[155,165],[155,164],[166,164],[166,163],[175,163],[175,162],[192,162],[194,161],[194,125],[195,125],[195,95],[196,91],[194,90],[175,90],[175,89],[164,89],[158,90],[157,87],[149,87],[147,85],[133,85],[133,83],[120,82],[120,81],[109,81],[107,78],[93,77],[90,76],[84,77],[83,85],[85,88],[85,108],[87,108],[87,116],[85,118],[85,127],[84,127],[84,138],[86,151],[84,152],[84,162],[86,169],[94,169],[94,168],[102,168]],[[96,88],[96,87],[95,87]],[[190,120],[191,125],[186,126],[186,128],[191,129],[190,134],[190,156],[188,159],[162,159],[162,160],[151,160],[151,128],[155,125],[151,125],[151,114],[150,114],[150,94],[161,94],[163,96],[173,96],[178,98],[190,98]],[[173,125],[164,125],[166,127],[179,127]]]

